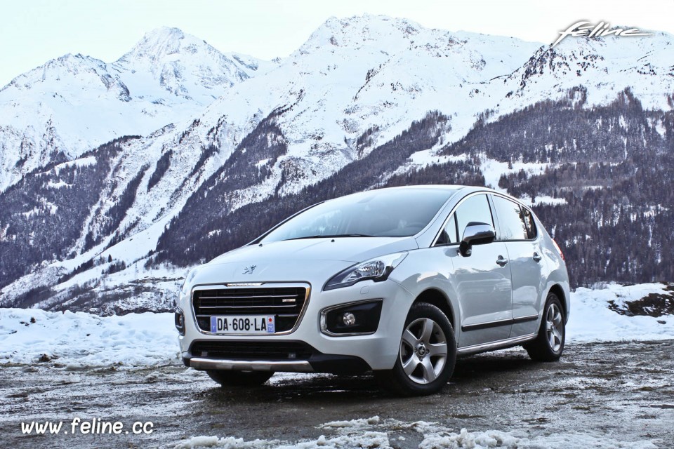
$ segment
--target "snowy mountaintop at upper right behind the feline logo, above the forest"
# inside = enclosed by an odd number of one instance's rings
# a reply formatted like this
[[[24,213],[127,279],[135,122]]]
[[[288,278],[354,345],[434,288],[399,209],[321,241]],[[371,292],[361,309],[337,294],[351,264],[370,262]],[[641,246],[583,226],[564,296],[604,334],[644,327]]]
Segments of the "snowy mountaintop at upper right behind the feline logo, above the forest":
[[[542,46],[508,76],[508,107],[560,98],[569,88],[585,86],[588,106],[606,105],[616,91],[630,87],[646,109],[667,110],[674,96],[672,54],[674,36],[665,32],[649,39],[594,37]]]

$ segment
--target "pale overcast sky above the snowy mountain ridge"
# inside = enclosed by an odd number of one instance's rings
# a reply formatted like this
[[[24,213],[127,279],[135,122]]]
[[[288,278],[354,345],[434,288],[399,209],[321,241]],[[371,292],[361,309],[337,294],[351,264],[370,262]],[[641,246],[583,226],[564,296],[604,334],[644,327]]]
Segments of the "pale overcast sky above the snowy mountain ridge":
[[[552,43],[579,20],[674,34],[674,0],[2,0],[0,86],[66,53],[113,62],[145,32],[178,27],[223,52],[289,55],[326,19],[362,14]]]

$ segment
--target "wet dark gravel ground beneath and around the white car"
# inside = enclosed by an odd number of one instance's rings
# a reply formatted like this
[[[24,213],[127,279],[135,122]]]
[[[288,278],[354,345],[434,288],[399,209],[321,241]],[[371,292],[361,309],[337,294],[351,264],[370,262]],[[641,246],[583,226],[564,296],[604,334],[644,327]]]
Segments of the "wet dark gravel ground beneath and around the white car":
[[[382,422],[437,422],[452,431],[521,430],[529,435],[587,431],[630,442],[674,447],[674,340],[568,344],[562,361],[534,363],[522,349],[458,361],[440,394],[397,398],[373,377],[272,377],[255,389],[221,389],[183,366],[67,370],[58,364],[0,366],[3,447],[173,447],[197,435],[280,440],[329,436],[319,427],[374,415]],[[129,434],[73,435],[70,422],[119,421]],[[58,435],[25,436],[20,423],[64,422]],[[153,424],[134,435],[133,422]],[[65,435],[62,432],[68,431]],[[391,445],[414,448],[421,438],[400,427]],[[395,442],[394,442],[395,440]]]

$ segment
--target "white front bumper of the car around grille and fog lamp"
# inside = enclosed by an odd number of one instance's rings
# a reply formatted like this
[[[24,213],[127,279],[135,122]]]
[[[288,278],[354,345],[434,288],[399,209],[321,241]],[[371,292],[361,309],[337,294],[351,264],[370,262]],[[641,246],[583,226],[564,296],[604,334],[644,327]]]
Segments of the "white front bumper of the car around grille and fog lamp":
[[[185,312],[185,335],[181,335],[179,340],[185,365],[198,370],[299,373],[356,373],[369,369],[391,369],[398,354],[407,311],[414,302],[411,293],[390,279],[383,282],[363,281],[329,291],[320,290],[321,286],[312,285],[299,323],[294,330],[282,335],[225,336],[205,333],[194,321],[191,295],[181,295],[178,307]],[[322,311],[366,300],[382,300],[376,332],[342,336],[322,333]],[[204,351],[204,345],[208,344],[211,349]],[[227,350],[218,349],[218,344],[224,345]],[[292,349],[293,344],[306,349]],[[272,350],[279,345],[282,349]],[[253,349],[248,351],[247,347]],[[265,351],[265,348],[270,350]]]

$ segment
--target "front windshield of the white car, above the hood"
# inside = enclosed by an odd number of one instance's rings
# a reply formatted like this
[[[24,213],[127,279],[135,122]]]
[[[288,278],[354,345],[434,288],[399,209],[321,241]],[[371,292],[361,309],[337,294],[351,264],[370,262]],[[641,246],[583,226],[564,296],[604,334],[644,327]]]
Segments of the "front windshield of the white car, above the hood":
[[[267,234],[263,242],[319,237],[407,237],[423,229],[456,190],[382,189],[326,201]]]

